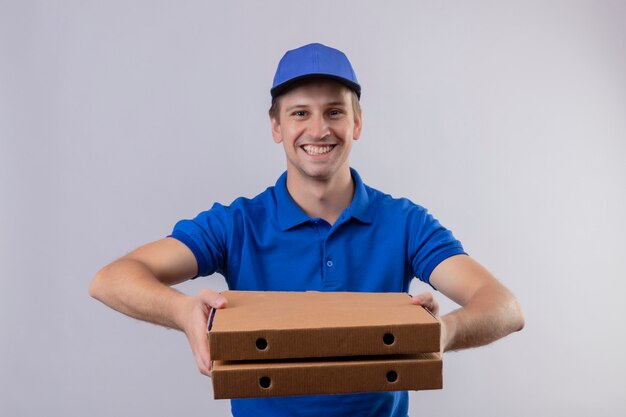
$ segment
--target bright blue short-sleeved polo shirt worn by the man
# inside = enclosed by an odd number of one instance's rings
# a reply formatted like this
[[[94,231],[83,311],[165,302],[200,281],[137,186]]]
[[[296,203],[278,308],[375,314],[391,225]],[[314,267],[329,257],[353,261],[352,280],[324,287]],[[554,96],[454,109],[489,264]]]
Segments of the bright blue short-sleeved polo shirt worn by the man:
[[[191,249],[198,276],[220,273],[231,290],[407,292],[428,283],[461,243],[423,207],[363,184],[330,225],[294,202],[284,173],[258,196],[214,204],[170,236]],[[406,392],[232,400],[234,416],[406,416]]]

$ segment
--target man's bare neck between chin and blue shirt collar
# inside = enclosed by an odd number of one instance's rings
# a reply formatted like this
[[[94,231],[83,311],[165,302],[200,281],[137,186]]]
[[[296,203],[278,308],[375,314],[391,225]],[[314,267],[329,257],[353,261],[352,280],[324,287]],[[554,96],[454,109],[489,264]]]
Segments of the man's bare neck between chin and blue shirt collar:
[[[332,225],[352,202],[354,181],[349,168],[341,175],[323,181],[287,172],[287,190],[307,215],[319,217]]]

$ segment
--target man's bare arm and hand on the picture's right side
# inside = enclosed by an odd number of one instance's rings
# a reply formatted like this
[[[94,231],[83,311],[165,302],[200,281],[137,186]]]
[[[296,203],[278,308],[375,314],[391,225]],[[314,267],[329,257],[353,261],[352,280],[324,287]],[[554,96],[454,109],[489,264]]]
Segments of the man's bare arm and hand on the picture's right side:
[[[524,327],[513,294],[469,256],[456,255],[441,262],[430,283],[461,306],[441,317],[442,352],[486,345]],[[412,302],[438,315],[432,294],[420,294]]]

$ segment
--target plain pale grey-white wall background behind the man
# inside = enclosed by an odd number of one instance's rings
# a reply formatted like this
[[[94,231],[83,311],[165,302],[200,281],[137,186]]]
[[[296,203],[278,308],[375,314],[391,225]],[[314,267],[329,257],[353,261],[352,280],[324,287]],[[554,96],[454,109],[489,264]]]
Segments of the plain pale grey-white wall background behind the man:
[[[526,316],[446,354],[411,415],[626,415],[626,2],[592,0],[0,0],[0,415],[228,415],[182,333],[87,286],[274,184],[269,88],[309,42],[363,85],[352,166],[429,208]],[[179,289],[203,286],[225,288]]]

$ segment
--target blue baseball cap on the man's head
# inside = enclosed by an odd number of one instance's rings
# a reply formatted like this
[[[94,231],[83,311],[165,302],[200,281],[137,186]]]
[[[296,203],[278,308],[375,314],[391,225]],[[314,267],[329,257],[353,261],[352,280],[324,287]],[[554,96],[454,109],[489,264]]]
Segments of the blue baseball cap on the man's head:
[[[270,93],[272,100],[307,78],[330,78],[344,84],[361,98],[361,86],[346,54],[321,43],[287,51],[278,63]]]

